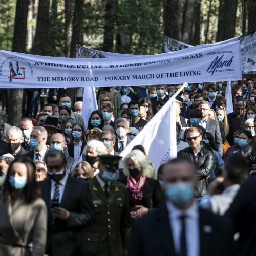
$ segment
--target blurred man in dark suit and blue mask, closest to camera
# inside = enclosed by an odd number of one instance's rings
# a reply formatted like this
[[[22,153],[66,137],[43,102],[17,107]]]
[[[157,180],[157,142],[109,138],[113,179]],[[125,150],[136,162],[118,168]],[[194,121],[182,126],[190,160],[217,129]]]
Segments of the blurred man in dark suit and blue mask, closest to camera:
[[[134,223],[129,256],[233,256],[231,222],[198,207],[194,165],[174,159],[163,169],[166,204]]]

